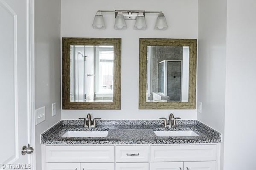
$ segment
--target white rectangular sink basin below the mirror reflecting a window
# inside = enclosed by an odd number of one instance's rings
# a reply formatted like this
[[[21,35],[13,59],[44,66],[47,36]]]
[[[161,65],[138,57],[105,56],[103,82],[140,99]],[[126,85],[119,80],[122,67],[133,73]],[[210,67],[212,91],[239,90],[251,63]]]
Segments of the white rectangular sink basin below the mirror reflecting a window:
[[[108,131],[67,131],[62,137],[106,137]]]

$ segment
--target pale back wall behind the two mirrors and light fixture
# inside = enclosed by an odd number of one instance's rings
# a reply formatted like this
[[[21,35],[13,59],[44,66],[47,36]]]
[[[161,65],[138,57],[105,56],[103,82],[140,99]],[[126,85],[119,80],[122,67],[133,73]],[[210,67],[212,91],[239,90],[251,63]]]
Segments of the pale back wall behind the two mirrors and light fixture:
[[[163,11],[169,28],[154,31],[157,14],[146,14],[147,30],[134,30],[135,20],[126,20],[127,30],[114,30],[114,14],[104,13],[106,29],[95,30],[92,22],[98,10]],[[121,110],[62,110],[62,119],[78,119],[93,113],[102,119],[158,119],[174,113],[182,119],[196,119],[196,110],[139,110],[139,38],[198,38],[198,0],[61,0],[61,37],[122,38]]]

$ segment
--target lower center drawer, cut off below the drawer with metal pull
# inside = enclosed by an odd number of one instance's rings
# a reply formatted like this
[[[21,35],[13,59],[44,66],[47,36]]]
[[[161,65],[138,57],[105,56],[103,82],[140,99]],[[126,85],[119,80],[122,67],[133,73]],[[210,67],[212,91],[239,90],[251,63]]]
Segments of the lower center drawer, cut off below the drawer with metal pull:
[[[148,163],[116,163],[116,170],[148,170]]]

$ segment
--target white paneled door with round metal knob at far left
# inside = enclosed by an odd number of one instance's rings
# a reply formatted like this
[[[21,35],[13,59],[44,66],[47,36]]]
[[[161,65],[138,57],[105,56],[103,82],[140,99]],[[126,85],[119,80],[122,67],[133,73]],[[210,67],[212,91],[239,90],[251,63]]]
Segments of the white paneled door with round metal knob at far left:
[[[30,166],[29,155],[21,154],[30,136],[28,6],[29,0],[0,0],[0,164],[3,169],[15,169],[9,166],[17,164]]]

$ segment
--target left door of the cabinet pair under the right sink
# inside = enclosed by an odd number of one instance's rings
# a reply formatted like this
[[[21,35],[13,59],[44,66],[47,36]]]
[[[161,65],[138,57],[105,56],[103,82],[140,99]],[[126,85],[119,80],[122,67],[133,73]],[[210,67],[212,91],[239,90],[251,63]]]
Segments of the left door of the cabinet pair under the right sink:
[[[152,162],[150,170],[183,170],[183,162]]]

